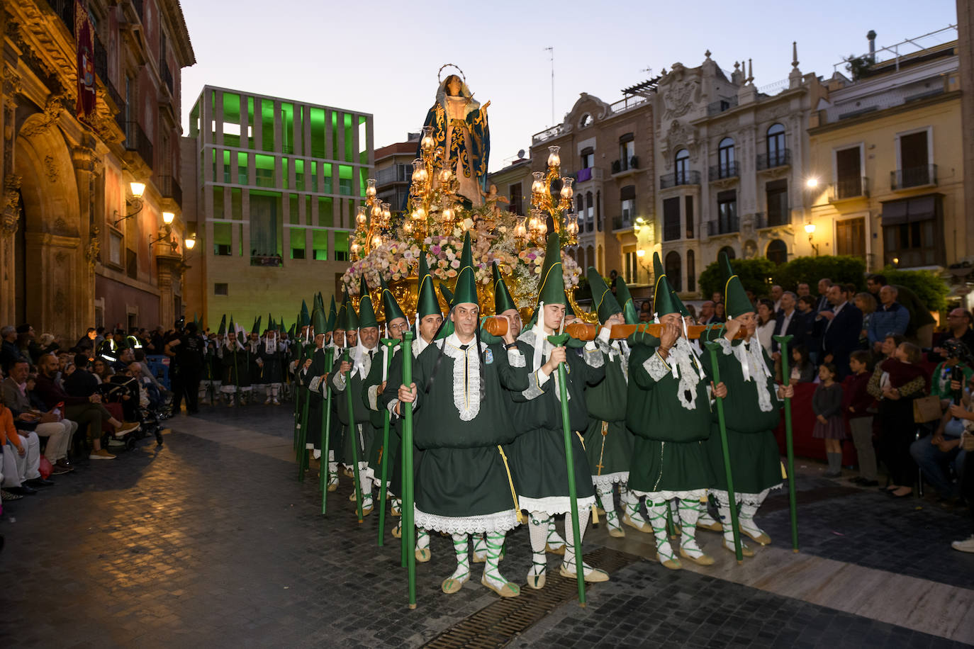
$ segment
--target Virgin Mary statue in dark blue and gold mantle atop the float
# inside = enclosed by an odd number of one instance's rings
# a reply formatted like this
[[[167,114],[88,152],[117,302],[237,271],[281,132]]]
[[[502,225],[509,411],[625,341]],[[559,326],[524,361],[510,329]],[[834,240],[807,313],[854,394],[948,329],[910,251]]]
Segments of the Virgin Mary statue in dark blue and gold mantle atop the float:
[[[473,99],[467,83],[457,75],[444,79],[436,90],[436,103],[423,126],[432,126],[435,146],[443,149],[443,168],[460,183],[459,194],[479,207],[487,195],[487,161],[490,157],[488,101]],[[419,151],[417,151],[417,157]],[[434,180],[435,182],[435,180]]]

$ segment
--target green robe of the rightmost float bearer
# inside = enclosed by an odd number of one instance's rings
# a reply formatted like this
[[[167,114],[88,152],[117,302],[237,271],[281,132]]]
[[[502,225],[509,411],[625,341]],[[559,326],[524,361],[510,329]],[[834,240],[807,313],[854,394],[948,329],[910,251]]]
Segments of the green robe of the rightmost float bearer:
[[[718,352],[717,363],[721,371],[721,380],[728,387],[728,396],[724,400],[724,420],[728,433],[728,449],[731,451],[731,473],[733,486],[737,493],[761,493],[767,488],[781,484],[781,455],[778,443],[774,439],[774,428],[781,420],[783,402],[778,400],[777,385],[771,376],[752,373],[751,380],[744,380],[741,363],[731,353],[731,345],[725,339],[721,344],[723,350]],[[732,346],[757,345],[768,369],[774,363],[768,358],[767,352],[752,337],[750,343],[734,341]],[[710,354],[704,355],[706,366],[710,365]],[[762,383],[768,390],[766,410],[762,410],[758,385]],[[727,490],[727,475],[724,470],[724,450],[721,446],[720,429],[718,428],[716,413],[712,422],[710,440],[707,442],[707,452],[710,465],[716,476],[714,488]]]

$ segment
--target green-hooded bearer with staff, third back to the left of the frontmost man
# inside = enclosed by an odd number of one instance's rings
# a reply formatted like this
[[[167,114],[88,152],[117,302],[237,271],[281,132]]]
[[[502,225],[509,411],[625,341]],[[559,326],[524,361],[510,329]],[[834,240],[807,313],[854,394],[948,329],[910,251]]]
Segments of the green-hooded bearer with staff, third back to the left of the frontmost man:
[[[335,401],[336,398],[338,401],[338,419],[349,431],[349,434],[345,436],[345,449],[343,450],[346,466],[349,465],[349,462],[355,461],[352,445],[357,446],[358,466],[354,469],[357,469],[356,477],[362,494],[362,516],[367,516],[372,513],[373,501],[372,481],[369,477],[368,455],[366,453],[372,447],[375,428],[372,426],[371,413],[363,398],[363,381],[372,369],[372,364],[382,362],[382,356],[379,352],[379,321],[375,317],[372,298],[368,293],[368,285],[365,283],[364,277],[361,278],[359,291],[361,300],[358,302],[357,343],[355,347],[346,346],[346,349],[350,350],[349,360],[346,361],[345,357],[342,356],[339,371],[332,373],[328,379],[328,384],[334,391],[332,401]],[[355,309],[351,302],[347,303],[346,313],[350,314],[351,317],[354,312]],[[352,329],[354,327],[347,323],[347,338],[351,338],[348,333]],[[351,340],[348,343],[351,344]],[[350,384],[347,385],[346,373],[350,371]],[[349,411],[349,399],[345,394],[346,389],[352,392],[351,413]],[[351,426],[353,418],[355,419],[354,428]],[[355,500],[355,497],[355,491],[353,491],[349,499]]]

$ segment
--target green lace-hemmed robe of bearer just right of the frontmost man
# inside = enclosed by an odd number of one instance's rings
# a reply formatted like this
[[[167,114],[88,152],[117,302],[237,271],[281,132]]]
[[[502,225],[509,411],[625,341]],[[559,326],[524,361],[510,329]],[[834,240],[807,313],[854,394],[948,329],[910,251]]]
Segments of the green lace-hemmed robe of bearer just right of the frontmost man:
[[[532,372],[536,335],[535,330],[531,329],[517,340],[517,348],[524,356],[529,374],[527,388],[512,395],[518,436],[510,447],[511,470],[523,509],[529,512],[561,514],[570,511],[571,500],[561,400],[557,386],[558,374],[552,372],[550,377],[540,382],[538,375]],[[542,347],[542,364],[547,360],[550,349],[550,343],[545,341]],[[586,385],[594,385],[605,378],[605,359],[597,348],[586,349],[581,355],[571,348],[567,352],[565,387],[568,392],[569,426],[572,431],[570,439],[576,496],[580,507],[588,507],[595,502],[595,489],[592,487],[592,473],[581,436],[576,431],[588,427],[584,390]]]

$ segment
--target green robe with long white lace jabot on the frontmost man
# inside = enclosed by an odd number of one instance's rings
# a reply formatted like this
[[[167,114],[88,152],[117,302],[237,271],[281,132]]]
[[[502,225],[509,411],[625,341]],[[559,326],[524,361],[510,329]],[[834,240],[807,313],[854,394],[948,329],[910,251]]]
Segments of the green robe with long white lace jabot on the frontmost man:
[[[416,524],[448,533],[506,531],[517,510],[500,445],[515,436],[507,401],[527,387],[500,344],[461,349],[456,334],[416,359]]]

